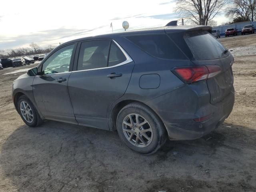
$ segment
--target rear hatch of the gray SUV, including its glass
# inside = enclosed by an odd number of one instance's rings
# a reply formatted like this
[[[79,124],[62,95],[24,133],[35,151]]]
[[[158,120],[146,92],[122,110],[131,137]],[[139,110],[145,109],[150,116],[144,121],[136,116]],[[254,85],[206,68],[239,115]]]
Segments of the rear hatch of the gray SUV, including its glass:
[[[234,58],[209,31],[209,27],[197,27],[183,33],[167,33],[195,65],[220,67],[219,74],[206,80],[210,103],[216,104],[234,89],[232,73]]]

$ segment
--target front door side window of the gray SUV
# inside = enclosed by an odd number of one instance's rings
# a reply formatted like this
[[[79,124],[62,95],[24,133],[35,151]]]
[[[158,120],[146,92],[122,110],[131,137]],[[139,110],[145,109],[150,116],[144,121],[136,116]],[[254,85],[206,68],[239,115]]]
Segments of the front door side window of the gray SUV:
[[[42,66],[43,74],[68,72],[74,44],[65,46],[52,54]]]

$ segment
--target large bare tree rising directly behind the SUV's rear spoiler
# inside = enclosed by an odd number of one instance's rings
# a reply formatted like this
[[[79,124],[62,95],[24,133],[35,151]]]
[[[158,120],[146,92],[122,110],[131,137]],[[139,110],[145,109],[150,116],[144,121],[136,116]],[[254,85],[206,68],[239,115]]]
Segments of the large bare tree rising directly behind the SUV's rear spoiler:
[[[178,0],[175,12],[197,25],[207,25],[220,14],[227,0]]]

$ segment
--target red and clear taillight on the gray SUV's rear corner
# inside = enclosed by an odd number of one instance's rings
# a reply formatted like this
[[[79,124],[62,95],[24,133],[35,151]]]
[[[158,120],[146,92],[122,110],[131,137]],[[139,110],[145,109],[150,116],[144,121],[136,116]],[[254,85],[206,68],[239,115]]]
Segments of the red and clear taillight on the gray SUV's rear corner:
[[[190,84],[218,75],[221,72],[221,68],[218,65],[186,66],[176,67],[173,72],[184,82]]]

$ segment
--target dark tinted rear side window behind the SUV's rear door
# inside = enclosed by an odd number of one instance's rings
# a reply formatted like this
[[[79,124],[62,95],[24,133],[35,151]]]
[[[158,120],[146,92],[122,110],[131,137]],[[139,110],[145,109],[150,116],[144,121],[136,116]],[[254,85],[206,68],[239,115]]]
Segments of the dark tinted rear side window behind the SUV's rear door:
[[[187,59],[165,34],[128,36],[126,38],[151,56],[162,59]]]

